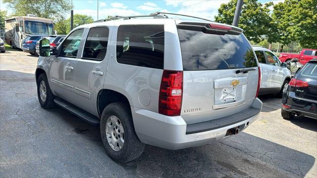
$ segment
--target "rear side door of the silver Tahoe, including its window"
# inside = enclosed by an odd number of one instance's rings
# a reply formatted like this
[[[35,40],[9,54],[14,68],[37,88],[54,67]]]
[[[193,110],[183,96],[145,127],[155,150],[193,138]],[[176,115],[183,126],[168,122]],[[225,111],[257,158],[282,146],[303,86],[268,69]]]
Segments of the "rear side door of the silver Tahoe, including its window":
[[[97,26],[89,29],[81,58],[75,71],[75,105],[98,116],[97,97],[103,89],[108,62],[109,28]]]

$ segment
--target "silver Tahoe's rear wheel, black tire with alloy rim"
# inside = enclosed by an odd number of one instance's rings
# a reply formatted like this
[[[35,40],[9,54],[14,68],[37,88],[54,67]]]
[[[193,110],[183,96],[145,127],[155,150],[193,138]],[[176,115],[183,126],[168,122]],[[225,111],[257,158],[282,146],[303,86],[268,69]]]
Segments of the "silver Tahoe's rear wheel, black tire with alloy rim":
[[[114,122],[116,122],[116,124],[112,123],[112,119]],[[115,130],[115,127],[118,125],[120,125],[120,128],[123,128],[124,134],[122,134],[122,131],[120,133],[120,131]],[[113,130],[113,133],[108,132],[108,134],[106,134],[106,127],[108,127],[109,129],[108,131],[112,132]],[[135,133],[131,109],[128,104],[115,102],[106,106],[101,116],[100,133],[107,154],[112,160],[116,162],[126,163],[132,161],[141,156],[141,154],[143,153],[145,144],[139,140],[138,136]],[[112,146],[110,145],[111,141],[108,141],[108,139],[112,140],[112,138],[117,141],[114,141],[115,148],[112,148]],[[124,142],[123,146],[120,148],[119,139],[121,138],[123,138]]]

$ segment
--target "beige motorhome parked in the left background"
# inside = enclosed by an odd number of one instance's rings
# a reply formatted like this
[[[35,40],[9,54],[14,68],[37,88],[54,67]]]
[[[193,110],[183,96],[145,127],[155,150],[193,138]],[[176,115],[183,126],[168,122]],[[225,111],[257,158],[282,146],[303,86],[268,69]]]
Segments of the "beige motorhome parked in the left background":
[[[54,35],[53,20],[27,16],[11,17],[5,22],[5,42],[12,48],[22,48],[22,40],[26,36]]]

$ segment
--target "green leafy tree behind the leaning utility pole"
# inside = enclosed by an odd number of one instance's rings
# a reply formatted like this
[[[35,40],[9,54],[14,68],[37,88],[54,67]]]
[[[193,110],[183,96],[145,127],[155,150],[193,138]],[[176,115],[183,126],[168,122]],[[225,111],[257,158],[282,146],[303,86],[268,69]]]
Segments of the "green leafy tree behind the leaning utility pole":
[[[232,24],[237,0],[230,0],[228,3],[221,4],[215,21],[225,24]],[[274,41],[274,24],[271,23],[269,6],[272,2],[262,4],[257,0],[244,0],[238,27],[244,30],[244,34],[249,40],[259,43],[264,37],[268,41]]]

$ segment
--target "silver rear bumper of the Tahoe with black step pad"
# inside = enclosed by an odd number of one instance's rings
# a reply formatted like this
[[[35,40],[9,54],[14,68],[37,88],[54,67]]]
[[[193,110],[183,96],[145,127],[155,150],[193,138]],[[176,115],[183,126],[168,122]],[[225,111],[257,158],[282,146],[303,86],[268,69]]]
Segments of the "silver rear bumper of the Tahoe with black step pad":
[[[211,126],[206,130],[208,126],[203,125],[202,130],[196,129],[190,133],[187,132],[190,125],[181,116],[169,117],[136,107],[131,107],[131,110],[136,134],[143,143],[176,150],[219,141],[226,136],[228,129],[239,127],[240,131],[244,130],[258,118],[262,108],[261,100],[257,98],[252,108],[257,108],[258,112],[244,119],[232,118],[231,123],[225,122],[220,127]]]

